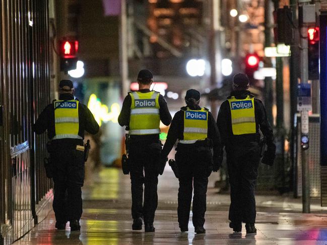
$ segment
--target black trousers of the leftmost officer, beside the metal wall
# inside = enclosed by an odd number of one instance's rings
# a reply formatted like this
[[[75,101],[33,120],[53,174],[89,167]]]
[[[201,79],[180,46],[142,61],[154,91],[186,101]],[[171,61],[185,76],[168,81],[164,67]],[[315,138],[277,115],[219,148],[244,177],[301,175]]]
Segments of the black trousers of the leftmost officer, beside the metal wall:
[[[53,211],[58,223],[80,220],[82,216],[82,190],[84,184],[84,151],[76,145],[82,140],[55,140],[53,162]]]

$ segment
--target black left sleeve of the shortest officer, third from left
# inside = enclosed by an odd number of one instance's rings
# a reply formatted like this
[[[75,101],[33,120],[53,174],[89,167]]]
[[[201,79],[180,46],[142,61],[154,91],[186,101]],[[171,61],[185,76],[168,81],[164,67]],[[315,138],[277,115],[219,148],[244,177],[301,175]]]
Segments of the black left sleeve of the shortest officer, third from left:
[[[184,126],[183,115],[184,115],[183,111],[178,111],[176,112],[173,120],[171,121],[171,125],[169,127],[168,134],[167,134],[167,139],[161,152],[162,158],[166,158],[168,156],[169,152],[171,151],[174,144],[176,143],[176,140],[178,138],[181,138],[181,134],[183,134],[183,126]]]

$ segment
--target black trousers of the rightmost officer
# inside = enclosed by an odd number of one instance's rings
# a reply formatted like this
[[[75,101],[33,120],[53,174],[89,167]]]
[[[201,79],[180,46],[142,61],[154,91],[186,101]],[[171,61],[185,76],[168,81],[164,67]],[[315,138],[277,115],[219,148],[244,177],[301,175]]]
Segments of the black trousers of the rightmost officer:
[[[229,220],[235,223],[255,223],[254,188],[259,165],[259,151],[227,153],[230,183]]]

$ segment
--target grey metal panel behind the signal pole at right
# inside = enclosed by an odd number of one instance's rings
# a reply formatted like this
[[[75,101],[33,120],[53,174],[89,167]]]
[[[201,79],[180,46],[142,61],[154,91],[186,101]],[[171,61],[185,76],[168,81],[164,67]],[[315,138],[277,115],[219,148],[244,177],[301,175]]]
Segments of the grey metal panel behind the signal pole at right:
[[[301,121],[297,123],[297,161],[296,161],[296,196],[302,196],[302,169],[301,169]],[[309,116],[309,173],[310,196],[320,197],[320,125],[319,116]]]

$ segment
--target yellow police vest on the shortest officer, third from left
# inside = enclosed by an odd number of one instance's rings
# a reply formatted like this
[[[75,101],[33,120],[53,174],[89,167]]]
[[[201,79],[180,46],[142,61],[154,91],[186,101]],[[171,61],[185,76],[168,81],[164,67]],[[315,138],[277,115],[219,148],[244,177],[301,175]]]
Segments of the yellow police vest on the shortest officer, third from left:
[[[192,144],[198,140],[205,140],[208,137],[208,110],[190,110],[188,107],[184,111],[184,130],[182,144]]]

